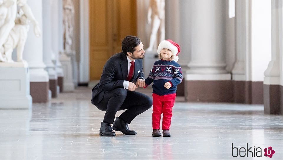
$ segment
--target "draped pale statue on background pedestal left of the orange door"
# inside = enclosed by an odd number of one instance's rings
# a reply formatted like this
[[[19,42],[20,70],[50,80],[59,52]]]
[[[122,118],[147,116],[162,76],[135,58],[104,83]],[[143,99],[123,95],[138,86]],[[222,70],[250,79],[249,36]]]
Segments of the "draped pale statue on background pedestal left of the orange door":
[[[64,50],[67,55],[73,54],[73,31],[74,31],[74,4],[72,0],[63,0],[63,24],[64,24]]]

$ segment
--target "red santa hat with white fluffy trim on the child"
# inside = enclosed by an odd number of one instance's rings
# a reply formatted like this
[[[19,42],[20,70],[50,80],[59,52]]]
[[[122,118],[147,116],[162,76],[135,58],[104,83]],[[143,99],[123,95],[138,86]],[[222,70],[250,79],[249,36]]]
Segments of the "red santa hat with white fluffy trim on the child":
[[[179,57],[177,56],[178,53],[181,51],[179,44],[173,42],[171,39],[163,40],[158,45],[157,53],[160,54],[160,51],[163,48],[168,48],[169,50],[171,50],[172,55],[175,56],[175,58],[174,58],[175,62],[177,62],[179,60]]]

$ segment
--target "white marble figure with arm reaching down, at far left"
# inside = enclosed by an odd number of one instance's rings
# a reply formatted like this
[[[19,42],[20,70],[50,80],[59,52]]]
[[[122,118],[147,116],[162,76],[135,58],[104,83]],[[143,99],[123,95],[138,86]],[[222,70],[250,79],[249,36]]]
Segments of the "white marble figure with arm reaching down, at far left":
[[[34,34],[39,37],[41,35],[38,22],[35,20],[31,9],[26,3],[26,0],[18,0],[20,6],[17,18],[14,19],[13,29],[9,32],[6,41],[0,48],[0,62],[13,62],[12,52],[17,48],[17,62],[22,62],[24,44],[27,40],[27,32],[29,30],[29,22],[34,24]]]

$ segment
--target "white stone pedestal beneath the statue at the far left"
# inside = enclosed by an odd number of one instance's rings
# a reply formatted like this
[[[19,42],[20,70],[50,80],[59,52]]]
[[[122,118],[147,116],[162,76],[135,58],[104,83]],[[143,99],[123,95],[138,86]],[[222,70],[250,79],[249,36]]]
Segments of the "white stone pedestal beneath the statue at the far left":
[[[0,63],[0,108],[31,109],[27,62]]]

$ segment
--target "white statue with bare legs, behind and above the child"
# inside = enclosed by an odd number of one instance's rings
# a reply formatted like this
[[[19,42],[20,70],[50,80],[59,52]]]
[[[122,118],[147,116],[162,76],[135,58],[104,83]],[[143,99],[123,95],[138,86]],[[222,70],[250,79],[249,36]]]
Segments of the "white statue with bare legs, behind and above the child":
[[[149,47],[147,48],[147,51],[153,50],[157,36],[159,42],[165,39],[164,19],[165,19],[165,0],[150,0],[148,13],[147,13],[147,23],[151,24],[151,33],[150,33]]]

